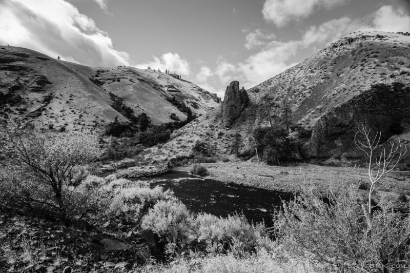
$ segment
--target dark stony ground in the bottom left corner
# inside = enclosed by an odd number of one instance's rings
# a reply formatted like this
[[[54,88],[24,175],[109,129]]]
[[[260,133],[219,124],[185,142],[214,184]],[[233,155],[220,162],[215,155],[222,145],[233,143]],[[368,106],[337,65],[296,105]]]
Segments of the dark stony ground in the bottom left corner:
[[[128,272],[147,263],[149,232],[103,233],[0,214],[0,272]]]

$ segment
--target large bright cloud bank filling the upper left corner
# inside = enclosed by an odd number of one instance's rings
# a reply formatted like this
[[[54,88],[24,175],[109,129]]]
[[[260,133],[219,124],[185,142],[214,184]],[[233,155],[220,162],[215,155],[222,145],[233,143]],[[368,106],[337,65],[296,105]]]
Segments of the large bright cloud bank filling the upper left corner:
[[[0,43],[27,47],[89,66],[130,65],[111,38],[63,0],[0,1]]]

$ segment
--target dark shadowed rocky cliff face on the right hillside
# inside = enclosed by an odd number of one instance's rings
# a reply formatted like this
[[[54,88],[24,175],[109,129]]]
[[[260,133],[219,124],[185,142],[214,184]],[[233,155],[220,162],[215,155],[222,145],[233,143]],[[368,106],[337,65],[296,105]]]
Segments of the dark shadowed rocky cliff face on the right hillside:
[[[330,158],[356,150],[357,126],[381,132],[382,139],[403,132],[410,116],[410,86],[375,84],[370,90],[323,114],[316,122],[304,152],[309,157]]]

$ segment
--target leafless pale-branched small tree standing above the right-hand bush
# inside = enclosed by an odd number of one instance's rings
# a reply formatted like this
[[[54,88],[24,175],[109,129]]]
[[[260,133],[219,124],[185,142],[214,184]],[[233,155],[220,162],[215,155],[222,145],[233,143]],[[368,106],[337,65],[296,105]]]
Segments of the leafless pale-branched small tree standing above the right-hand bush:
[[[369,230],[372,228],[372,194],[375,190],[376,183],[383,177],[384,174],[392,171],[403,155],[407,152],[407,147],[400,142],[398,139],[398,144],[395,144],[393,140],[390,141],[390,149],[383,148],[380,155],[375,154],[377,146],[380,144],[381,132],[377,131],[374,138],[370,136],[371,129],[366,129],[364,125],[357,126],[358,131],[355,134],[355,143],[357,147],[362,150],[366,155],[367,160],[367,172],[368,178],[370,180],[370,189],[368,191],[368,211],[367,211],[367,222]],[[364,140],[360,141],[358,139],[358,134],[364,136]]]

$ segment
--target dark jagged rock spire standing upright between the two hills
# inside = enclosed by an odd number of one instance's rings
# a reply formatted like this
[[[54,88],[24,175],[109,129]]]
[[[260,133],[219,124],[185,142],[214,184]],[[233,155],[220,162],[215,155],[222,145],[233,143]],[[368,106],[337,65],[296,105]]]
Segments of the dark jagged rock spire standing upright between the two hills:
[[[249,105],[249,96],[239,82],[233,81],[225,91],[222,102],[222,122],[225,127],[230,127],[238,118],[240,113]]]

